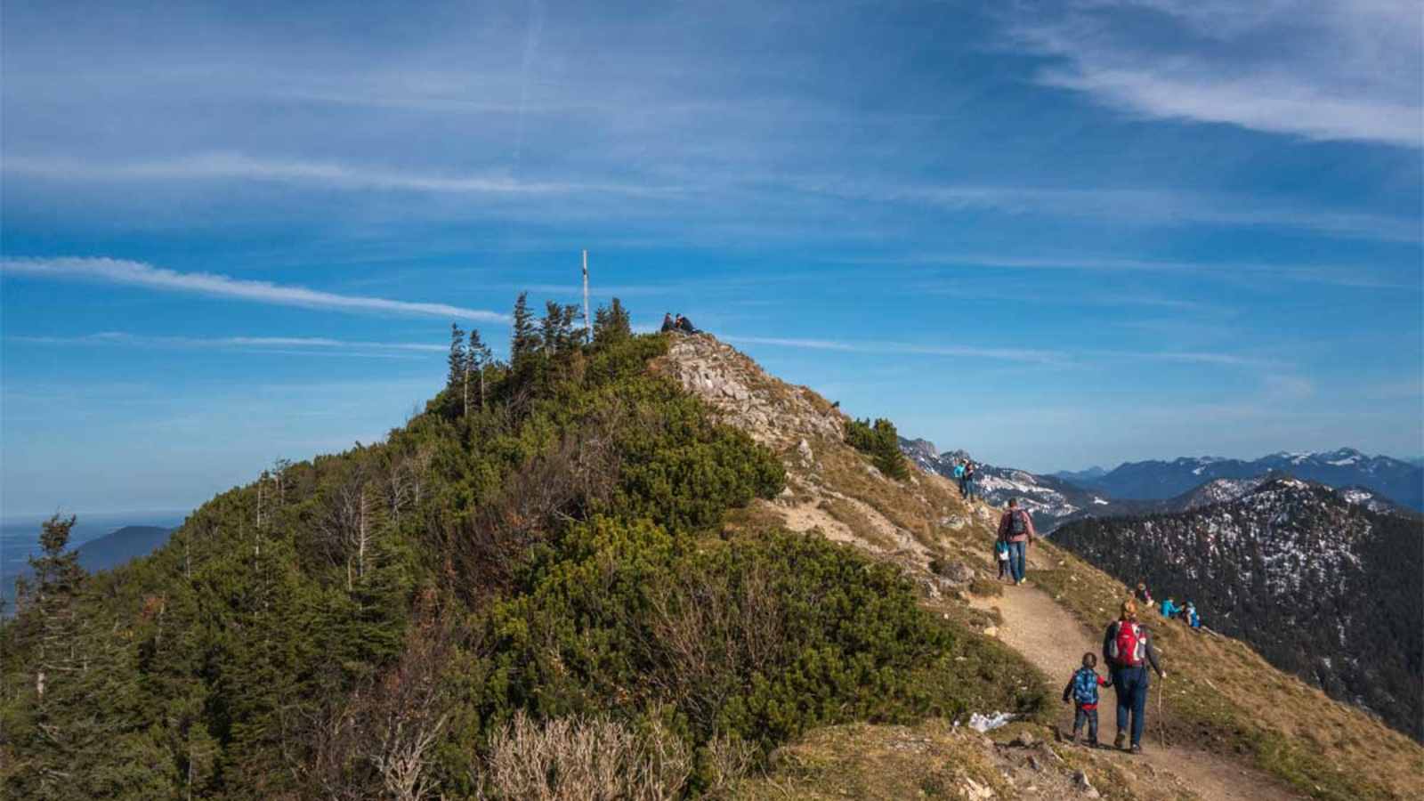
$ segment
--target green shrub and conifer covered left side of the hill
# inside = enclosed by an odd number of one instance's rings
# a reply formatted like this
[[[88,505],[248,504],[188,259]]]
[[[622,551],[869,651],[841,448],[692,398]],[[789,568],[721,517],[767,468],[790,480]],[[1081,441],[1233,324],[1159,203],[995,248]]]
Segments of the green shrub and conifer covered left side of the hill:
[[[617,301],[592,341],[574,316],[521,296],[508,362],[456,328],[383,442],[279,462],[114,572],[47,523],[0,629],[4,795],[672,798],[812,725],[1041,700],[894,566],[725,529],[779,459],[649,371],[668,339]]]

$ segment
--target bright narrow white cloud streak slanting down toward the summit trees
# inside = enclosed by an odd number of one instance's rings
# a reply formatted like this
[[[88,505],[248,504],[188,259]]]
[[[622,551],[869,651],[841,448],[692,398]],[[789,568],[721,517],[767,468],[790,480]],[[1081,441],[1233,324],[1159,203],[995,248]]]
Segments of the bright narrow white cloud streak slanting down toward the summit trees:
[[[339,295],[336,292],[308,289],[306,286],[293,286],[290,284],[246,281],[212,272],[178,272],[138,261],[112,258],[6,258],[0,259],[0,274],[104,281],[283,306],[508,322],[507,315],[484,309],[363,295]]]

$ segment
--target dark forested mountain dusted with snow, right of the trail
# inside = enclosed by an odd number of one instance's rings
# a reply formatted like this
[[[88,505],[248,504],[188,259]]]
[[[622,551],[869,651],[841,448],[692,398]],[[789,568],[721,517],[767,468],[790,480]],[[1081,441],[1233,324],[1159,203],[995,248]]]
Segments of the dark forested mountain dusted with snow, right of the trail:
[[[1206,486],[1243,486],[1226,482]],[[1210,503],[1216,490],[1182,512],[1069,522],[1054,542],[1159,599],[1195,601],[1208,626],[1424,738],[1420,516],[1290,477]]]

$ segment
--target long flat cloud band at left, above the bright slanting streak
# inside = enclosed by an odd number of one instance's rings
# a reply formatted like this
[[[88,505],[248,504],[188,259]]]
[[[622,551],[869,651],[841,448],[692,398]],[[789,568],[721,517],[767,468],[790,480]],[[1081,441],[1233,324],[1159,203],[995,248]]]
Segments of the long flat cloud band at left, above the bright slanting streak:
[[[241,153],[199,153],[134,161],[87,161],[71,157],[6,155],[3,168],[20,175],[67,181],[124,180],[248,180],[313,184],[339,190],[387,190],[429,194],[483,195],[666,195],[675,187],[646,184],[520,181],[498,174],[434,175],[370,164],[253,157]]]

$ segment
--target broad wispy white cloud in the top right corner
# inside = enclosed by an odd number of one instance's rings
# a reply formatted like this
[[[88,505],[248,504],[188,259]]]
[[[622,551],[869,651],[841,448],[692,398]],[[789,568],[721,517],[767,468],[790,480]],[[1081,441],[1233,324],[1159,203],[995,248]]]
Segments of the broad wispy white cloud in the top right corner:
[[[1424,147],[1415,0],[1071,0],[1024,6],[1038,80],[1151,118]]]

